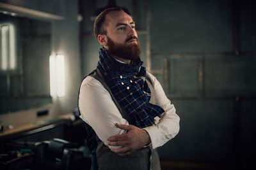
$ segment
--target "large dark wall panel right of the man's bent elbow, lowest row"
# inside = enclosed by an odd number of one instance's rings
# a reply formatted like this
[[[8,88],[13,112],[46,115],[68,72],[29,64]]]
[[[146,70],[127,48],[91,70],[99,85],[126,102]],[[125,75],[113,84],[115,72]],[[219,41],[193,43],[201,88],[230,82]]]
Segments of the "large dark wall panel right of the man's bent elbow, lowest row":
[[[180,117],[180,132],[158,148],[161,160],[232,160],[232,100],[171,98],[171,101]]]

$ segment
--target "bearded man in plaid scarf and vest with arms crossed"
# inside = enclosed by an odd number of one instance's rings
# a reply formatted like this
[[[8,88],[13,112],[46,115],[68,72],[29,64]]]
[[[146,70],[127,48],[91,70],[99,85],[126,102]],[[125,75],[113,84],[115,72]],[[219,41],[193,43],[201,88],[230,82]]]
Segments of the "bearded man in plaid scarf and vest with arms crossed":
[[[109,8],[97,16],[94,33],[99,62],[78,98],[92,169],[161,169],[156,148],[177,135],[180,118],[142,66],[135,22],[122,8]]]

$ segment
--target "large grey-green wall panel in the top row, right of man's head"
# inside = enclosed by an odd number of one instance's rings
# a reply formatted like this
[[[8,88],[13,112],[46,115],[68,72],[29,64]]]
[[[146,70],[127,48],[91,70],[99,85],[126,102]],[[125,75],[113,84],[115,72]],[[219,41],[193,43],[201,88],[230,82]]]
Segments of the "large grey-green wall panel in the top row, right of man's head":
[[[152,54],[233,50],[228,1],[149,2]]]

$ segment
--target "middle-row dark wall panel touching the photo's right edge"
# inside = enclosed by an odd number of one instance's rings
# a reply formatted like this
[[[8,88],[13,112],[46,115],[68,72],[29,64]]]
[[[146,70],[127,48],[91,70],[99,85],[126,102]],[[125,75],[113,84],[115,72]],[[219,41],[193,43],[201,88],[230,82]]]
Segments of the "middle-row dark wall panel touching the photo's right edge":
[[[205,94],[256,94],[255,57],[205,57]]]

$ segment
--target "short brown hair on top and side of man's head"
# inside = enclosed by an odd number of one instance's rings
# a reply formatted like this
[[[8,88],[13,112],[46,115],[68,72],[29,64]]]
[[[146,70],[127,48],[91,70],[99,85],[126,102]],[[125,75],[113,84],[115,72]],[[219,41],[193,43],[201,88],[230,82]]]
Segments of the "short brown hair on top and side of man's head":
[[[107,34],[106,28],[103,27],[103,24],[104,24],[106,15],[108,13],[110,13],[111,11],[124,11],[124,10],[122,8],[118,7],[118,8],[108,8],[108,9],[100,12],[100,14],[96,17],[96,19],[94,21],[94,25],[93,25],[93,31],[94,31],[94,35],[96,36],[96,38],[98,37],[99,34],[103,34],[103,35]]]

